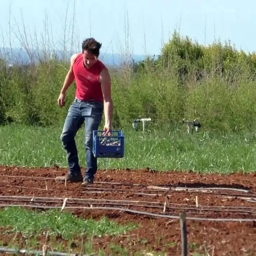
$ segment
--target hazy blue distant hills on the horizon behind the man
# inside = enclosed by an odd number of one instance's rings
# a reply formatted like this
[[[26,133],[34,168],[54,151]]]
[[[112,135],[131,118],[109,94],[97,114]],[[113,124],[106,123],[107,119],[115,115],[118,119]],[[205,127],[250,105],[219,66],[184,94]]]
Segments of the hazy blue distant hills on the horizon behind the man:
[[[63,51],[56,51],[57,58],[59,60],[63,60]],[[33,56],[36,56],[37,53]],[[41,54],[42,55],[42,54]],[[66,60],[69,61],[71,53],[68,52],[65,54],[66,55]],[[5,60],[8,61],[10,65],[14,64],[12,63],[12,59],[14,59],[15,63],[19,64],[28,64],[29,63],[29,55],[24,49],[19,49],[19,48],[14,48],[12,49],[12,54],[11,54],[11,49],[10,48],[0,48],[0,58],[5,58]],[[135,62],[144,60],[145,56],[144,55],[134,55],[130,57],[130,60],[134,60]],[[37,57],[35,58],[37,59]],[[108,66],[119,66],[122,62],[125,61],[124,56],[120,56],[117,53],[102,53],[99,56],[99,59],[103,61],[106,65]]]

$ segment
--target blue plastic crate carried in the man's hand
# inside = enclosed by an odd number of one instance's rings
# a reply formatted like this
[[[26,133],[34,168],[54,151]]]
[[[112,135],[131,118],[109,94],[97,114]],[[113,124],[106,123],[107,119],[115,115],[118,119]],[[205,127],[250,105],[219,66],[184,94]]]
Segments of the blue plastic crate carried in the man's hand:
[[[101,158],[124,157],[124,135],[120,130],[111,131],[111,136],[103,136],[104,131],[93,131],[93,154]]]

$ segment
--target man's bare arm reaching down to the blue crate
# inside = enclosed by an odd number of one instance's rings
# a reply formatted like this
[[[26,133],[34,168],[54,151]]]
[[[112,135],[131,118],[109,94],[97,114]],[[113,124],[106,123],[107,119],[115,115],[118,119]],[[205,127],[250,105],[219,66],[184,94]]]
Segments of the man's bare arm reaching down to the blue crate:
[[[99,76],[99,81],[101,82],[102,94],[104,99],[105,125],[109,126],[111,129],[113,102],[111,97],[111,78],[108,69],[102,70]]]

